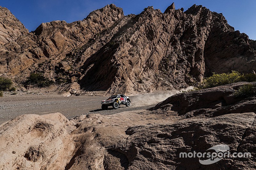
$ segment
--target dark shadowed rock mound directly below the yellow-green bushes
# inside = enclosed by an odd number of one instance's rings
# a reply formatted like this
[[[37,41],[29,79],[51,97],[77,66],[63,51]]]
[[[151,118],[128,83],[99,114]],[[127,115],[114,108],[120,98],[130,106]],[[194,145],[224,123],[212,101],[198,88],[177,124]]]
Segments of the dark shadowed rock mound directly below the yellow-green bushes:
[[[255,96],[246,98],[233,95],[235,90],[244,84],[256,83],[239,82],[176,94],[158,103],[153,110],[172,110],[186,117],[196,115],[215,117],[230,113],[255,112]]]

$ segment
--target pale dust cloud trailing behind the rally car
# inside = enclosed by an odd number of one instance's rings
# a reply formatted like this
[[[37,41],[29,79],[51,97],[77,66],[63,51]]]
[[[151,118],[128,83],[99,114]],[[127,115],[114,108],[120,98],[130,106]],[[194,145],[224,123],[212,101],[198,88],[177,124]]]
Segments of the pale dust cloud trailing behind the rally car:
[[[132,101],[131,106],[138,107],[138,106],[148,106],[148,105],[157,104],[174,94],[180,93],[182,91],[187,91],[193,88],[194,88],[193,86],[189,86],[184,89],[131,96],[130,97]]]

